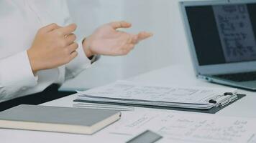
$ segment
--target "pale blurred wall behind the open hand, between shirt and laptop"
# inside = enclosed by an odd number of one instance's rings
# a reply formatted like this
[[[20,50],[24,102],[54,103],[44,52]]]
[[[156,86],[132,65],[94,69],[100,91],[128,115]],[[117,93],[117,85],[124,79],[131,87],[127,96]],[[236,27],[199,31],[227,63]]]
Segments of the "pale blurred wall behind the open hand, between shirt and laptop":
[[[87,89],[171,64],[191,65],[178,0],[69,0],[68,4],[81,37],[118,20],[133,24],[129,32],[155,35],[127,56],[101,56],[91,69],[66,82],[65,88]]]

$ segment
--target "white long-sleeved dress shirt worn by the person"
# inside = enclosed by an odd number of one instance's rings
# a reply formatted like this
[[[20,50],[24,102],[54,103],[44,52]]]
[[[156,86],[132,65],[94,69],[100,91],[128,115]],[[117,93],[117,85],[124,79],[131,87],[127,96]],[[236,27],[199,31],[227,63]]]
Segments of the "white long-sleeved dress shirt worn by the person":
[[[32,73],[27,49],[37,30],[47,24],[66,26],[71,22],[65,0],[0,1],[0,102],[42,92],[50,84],[62,84],[91,66],[80,40],[73,61],[38,71],[36,76]]]

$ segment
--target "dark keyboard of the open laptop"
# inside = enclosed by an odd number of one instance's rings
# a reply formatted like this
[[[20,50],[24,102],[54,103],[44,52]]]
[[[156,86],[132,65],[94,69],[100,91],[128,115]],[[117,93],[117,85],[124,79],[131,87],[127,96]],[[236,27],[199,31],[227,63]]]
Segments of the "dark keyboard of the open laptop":
[[[215,75],[213,77],[227,79],[227,80],[231,80],[234,82],[248,82],[248,81],[256,80],[256,71],[237,73],[237,74],[220,74],[220,75]]]

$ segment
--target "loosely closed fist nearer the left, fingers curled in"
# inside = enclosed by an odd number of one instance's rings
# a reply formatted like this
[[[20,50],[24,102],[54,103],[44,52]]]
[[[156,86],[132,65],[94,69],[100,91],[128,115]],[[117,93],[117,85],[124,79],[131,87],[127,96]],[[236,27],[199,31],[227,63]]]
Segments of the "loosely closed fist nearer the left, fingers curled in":
[[[30,49],[27,50],[32,71],[52,69],[67,64],[78,53],[78,44],[74,42],[76,24],[60,27],[50,24],[37,31]]]

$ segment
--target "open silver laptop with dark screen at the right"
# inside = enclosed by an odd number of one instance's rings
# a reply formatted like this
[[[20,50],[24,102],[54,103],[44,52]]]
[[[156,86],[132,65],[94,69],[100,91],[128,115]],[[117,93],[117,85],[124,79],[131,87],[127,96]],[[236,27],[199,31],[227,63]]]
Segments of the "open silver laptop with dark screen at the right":
[[[256,0],[182,1],[196,76],[256,91]]]

